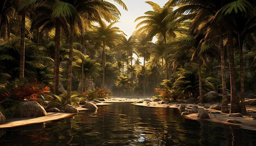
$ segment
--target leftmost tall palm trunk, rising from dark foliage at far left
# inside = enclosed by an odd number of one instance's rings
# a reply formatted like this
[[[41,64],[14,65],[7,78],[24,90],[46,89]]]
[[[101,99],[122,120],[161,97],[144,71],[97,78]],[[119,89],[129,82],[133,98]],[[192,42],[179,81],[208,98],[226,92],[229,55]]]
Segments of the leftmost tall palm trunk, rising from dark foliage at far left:
[[[22,11],[21,29],[20,29],[20,79],[24,79],[25,63],[25,10]]]

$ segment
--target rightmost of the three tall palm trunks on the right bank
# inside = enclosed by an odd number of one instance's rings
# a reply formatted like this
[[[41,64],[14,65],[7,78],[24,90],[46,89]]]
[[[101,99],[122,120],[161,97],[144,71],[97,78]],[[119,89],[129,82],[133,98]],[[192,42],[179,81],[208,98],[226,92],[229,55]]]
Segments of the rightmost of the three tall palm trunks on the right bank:
[[[245,83],[244,83],[244,63],[243,63],[243,40],[238,35],[239,55],[240,55],[240,88],[241,88],[241,113],[247,114],[245,108]]]

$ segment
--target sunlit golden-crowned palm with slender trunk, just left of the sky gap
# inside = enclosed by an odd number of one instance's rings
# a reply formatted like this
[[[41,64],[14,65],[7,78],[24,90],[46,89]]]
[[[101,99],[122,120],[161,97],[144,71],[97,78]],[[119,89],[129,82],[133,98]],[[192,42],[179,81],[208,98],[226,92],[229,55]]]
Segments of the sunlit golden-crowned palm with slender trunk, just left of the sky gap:
[[[110,49],[117,48],[117,44],[124,38],[124,32],[119,30],[118,27],[113,27],[117,21],[110,23],[108,26],[105,22],[100,24],[100,27],[95,27],[97,33],[97,40],[101,43],[102,47],[102,88],[105,88],[105,64],[106,64],[106,47]]]

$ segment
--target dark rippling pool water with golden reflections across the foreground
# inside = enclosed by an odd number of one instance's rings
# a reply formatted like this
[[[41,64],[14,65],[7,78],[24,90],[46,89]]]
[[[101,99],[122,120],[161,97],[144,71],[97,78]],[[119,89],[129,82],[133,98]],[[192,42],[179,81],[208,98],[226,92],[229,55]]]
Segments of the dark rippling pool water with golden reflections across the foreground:
[[[2,130],[3,131],[3,130]],[[130,103],[81,111],[67,119],[4,129],[1,146],[254,146],[256,131],[184,119],[173,108]]]

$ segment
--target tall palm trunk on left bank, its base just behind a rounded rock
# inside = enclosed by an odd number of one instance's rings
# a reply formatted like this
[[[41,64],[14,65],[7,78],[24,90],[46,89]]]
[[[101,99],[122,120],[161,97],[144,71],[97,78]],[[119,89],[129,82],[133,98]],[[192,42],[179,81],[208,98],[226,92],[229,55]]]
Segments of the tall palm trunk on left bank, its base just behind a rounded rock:
[[[74,24],[71,22],[71,24],[70,24],[70,55],[69,55],[69,60],[68,60],[68,75],[67,75],[67,104],[71,104],[73,35],[74,35]]]

